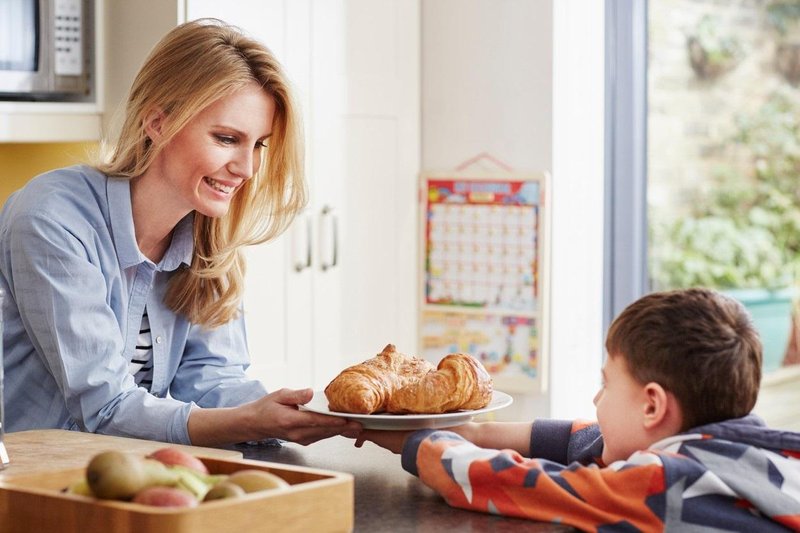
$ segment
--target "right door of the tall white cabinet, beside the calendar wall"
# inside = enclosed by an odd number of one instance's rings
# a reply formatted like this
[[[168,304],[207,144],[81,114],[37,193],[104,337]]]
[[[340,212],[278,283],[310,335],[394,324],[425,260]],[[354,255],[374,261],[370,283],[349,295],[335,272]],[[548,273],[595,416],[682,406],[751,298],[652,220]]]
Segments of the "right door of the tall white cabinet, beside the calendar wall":
[[[310,171],[330,258],[315,270],[314,379],[387,343],[416,351],[419,172],[419,2],[312,3]]]

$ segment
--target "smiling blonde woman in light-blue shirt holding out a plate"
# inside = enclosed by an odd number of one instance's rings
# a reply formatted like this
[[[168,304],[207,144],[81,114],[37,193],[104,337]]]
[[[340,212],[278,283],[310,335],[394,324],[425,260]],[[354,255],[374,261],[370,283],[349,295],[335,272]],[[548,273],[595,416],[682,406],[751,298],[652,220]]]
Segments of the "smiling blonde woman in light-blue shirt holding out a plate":
[[[305,202],[284,72],[220,21],[159,42],[105,162],[43,174],[0,214],[6,429],[303,444],[357,424],[245,376],[242,248]]]

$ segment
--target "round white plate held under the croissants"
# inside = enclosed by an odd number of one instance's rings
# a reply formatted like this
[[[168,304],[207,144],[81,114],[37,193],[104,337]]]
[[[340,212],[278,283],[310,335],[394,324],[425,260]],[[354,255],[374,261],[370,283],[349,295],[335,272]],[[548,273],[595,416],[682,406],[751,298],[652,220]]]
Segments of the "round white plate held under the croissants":
[[[299,406],[304,411],[312,411],[323,415],[340,416],[360,422],[365,429],[408,430],[423,428],[446,428],[466,424],[476,415],[488,413],[508,407],[513,398],[505,392],[494,391],[492,401],[483,409],[474,411],[455,411],[440,415],[390,415],[380,413],[375,415],[359,415],[355,413],[340,413],[328,409],[328,399],[322,391],[315,391],[314,398],[305,405]]]

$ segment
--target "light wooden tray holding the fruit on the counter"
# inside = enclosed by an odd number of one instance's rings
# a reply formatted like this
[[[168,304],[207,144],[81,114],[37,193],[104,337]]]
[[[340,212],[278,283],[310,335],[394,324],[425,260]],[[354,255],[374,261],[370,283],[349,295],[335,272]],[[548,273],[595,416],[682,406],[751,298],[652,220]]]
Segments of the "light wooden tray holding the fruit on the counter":
[[[246,459],[200,457],[213,474],[255,468],[291,487],[241,498],[164,508],[64,494],[84,468],[0,477],[0,524],[8,533],[219,533],[222,531],[351,531],[353,476]]]

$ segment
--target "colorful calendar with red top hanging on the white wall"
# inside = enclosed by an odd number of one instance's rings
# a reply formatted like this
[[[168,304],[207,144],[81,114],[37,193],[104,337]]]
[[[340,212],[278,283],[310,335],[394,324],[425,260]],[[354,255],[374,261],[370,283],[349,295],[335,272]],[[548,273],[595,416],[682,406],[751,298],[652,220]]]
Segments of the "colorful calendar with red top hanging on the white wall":
[[[545,387],[547,175],[424,175],[420,335],[466,352],[497,388]]]

